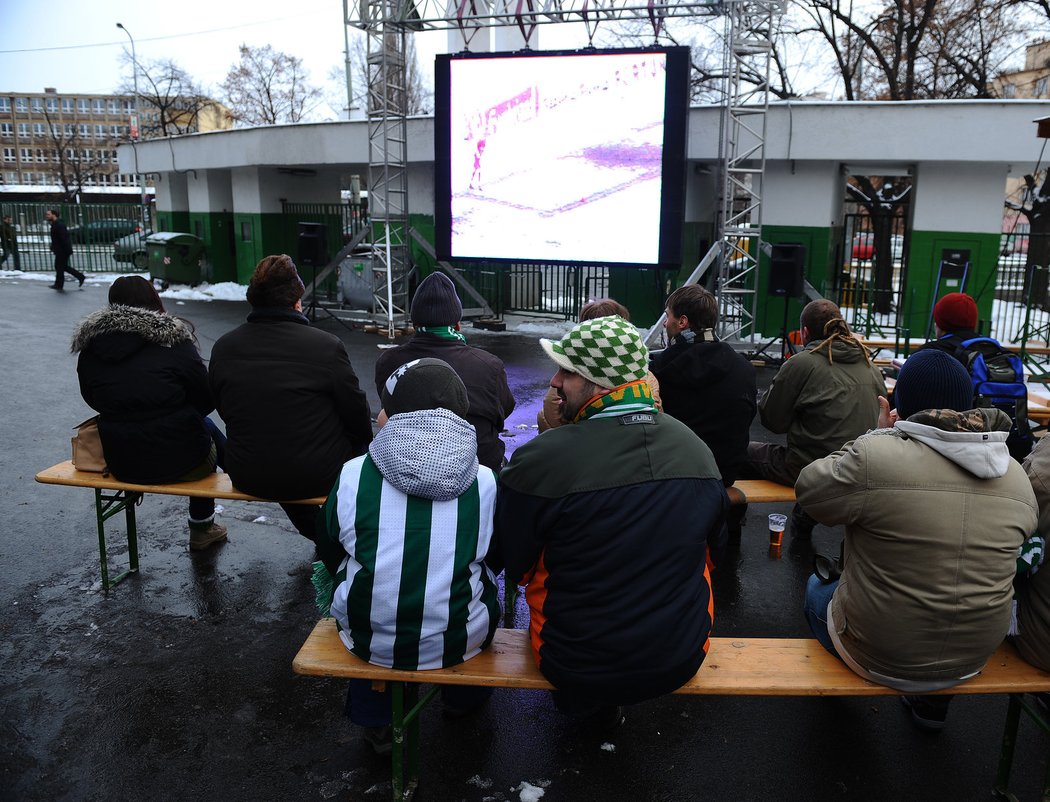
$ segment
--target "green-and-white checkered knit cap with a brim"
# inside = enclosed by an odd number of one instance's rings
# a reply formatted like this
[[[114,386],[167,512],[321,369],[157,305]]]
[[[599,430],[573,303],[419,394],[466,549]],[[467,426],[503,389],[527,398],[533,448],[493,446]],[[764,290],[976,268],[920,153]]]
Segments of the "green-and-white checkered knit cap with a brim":
[[[606,389],[644,379],[649,371],[642,335],[618,315],[584,320],[558,342],[541,338],[540,344],[559,367]]]

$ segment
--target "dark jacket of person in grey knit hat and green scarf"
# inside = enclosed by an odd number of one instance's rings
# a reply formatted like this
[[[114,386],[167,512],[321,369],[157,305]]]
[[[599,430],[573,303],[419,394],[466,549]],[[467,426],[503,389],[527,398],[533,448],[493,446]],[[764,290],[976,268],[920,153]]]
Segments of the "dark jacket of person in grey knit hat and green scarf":
[[[466,419],[478,432],[478,462],[492,470],[503,467],[505,446],[500,432],[514,409],[514,397],[507,385],[503,361],[487,351],[458,340],[446,340],[427,332],[416,334],[404,345],[384,351],[376,360],[376,393],[398,367],[413,359],[443,359],[466,385],[470,402]]]

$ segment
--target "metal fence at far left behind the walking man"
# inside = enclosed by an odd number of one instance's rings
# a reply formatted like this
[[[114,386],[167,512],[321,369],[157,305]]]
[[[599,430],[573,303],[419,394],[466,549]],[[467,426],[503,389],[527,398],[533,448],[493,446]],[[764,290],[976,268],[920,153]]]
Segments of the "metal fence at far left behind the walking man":
[[[9,214],[18,237],[18,269],[48,272],[55,269],[50,253],[50,225],[45,218],[56,209],[69,228],[72,238],[70,263],[84,273],[123,273],[139,270],[131,261],[113,258],[113,242],[123,236],[140,233],[144,220],[148,227],[148,207],[139,204],[41,204],[3,203],[2,214]],[[145,213],[144,213],[145,212]],[[14,268],[8,258],[5,268]]]

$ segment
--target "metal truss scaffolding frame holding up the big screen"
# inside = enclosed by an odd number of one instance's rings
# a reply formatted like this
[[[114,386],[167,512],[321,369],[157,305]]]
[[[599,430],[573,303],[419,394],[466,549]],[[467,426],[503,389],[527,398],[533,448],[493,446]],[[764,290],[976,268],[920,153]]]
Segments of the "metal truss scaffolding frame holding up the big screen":
[[[718,220],[718,296],[731,336],[754,334],[761,249],[761,187],[765,166],[765,114],[772,31],[785,0],[344,0],[346,24],[368,35],[369,205],[384,265],[377,270],[374,313],[388,336],[407,308],[407,92],[405,35],[418,30],[472,31],[518,27],[526,42],[537,25],[583,22],[592,39],[604,23],[642,20],[654,38],[664,20],[717,17],[727,20],[719,157],[722,198]],[[758,77],[756,81],[755,78]],[[706,257],[691,280],[701,275]]]

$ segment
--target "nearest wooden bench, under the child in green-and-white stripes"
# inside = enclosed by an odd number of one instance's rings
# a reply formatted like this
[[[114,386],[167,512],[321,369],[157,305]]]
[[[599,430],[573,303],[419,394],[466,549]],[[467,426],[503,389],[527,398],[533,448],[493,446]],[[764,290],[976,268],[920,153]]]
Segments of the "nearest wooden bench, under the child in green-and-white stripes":
[[[460,666],[432,671],[397,671],[373,666],[346,651],[333,618],[314,627],[292,661],[297,674],[390,682],[393,706],[393,798],[412,796],[419,771],[419,714],[438,688],[417,700],[418,685],[464,684],[549,690],[536,666],[525,630],[497,630],[491,646]],[[1004,642],[984,671],[942,694],[1009,694],[1007,724],[1000,753],[996,793],[1006,794],[1022,710],[1037,721],[1026,693],[1050,691],[1050,674],[1025,662]],[[704,664],[676,694],[704,696],[895,696],[900,692],[854,674],[812,638],[713,637]],[[1046,727],[1041,723],[1041,726]],[[1048,782],[1050,787],[1050,782]],[[1044,797],[1046,798],[1046,797]]]

